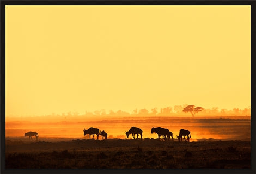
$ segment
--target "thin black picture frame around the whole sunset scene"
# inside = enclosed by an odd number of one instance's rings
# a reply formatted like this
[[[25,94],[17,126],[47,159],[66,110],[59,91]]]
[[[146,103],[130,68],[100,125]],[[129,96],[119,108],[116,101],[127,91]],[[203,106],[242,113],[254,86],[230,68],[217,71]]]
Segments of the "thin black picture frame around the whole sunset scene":
[[[5,5],[251,5],[251,169],[5,169]],[[255,161],[255,16],[256,1],[1,1],[1,173],[256,173]]]

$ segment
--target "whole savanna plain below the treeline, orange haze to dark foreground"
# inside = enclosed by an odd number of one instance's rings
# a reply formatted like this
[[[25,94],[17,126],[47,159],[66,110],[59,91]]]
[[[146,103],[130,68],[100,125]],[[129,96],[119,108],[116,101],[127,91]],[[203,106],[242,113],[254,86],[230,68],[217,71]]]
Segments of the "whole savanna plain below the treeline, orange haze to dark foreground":
[[[37,121],[36,121],[37,120]],[[47,120],[47,119],[46,119]],[[6,122],[7,169],[249,169],[250,117],[145,117],[92,119],[81,122],[9,119]],[[78,121],[80,120],[80,121]],[[67,127],[67,122],[69,126]],[[143,139],[126,137],[136,126]],[[37,127],[37,129],[36,129]],[[83,136],[83,129],[99,128],[107,139]],[[168,128],[173,139],[158,139],[152,127]],[[180,129],[191,132],[190,142],[179,142]],[[24,132],[37,130],[29,140]],[[67,134],[69,132],[69,134]],[[17,134],[15,134],[17,133]],[[51,134],[50,134],[51,133]],[[52,136],[49,136],[52,135]],[[66,135],[66,136],[64,136]],[[74,136],[71,136],[74,135]],[[54,137],[53,137],[54,136]],[[136,136],[135,136],[136,138]]]

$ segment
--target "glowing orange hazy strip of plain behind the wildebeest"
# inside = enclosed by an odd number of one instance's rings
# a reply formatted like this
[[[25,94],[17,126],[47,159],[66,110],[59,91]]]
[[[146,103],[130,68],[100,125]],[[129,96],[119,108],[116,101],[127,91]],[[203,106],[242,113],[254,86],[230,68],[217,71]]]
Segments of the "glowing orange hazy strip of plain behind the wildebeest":
[[[6,121],[6,136],[24,136],[25,132],[38,132],[40,137],[84,138],[83,129],[90,127],[105,130],[108,138],[126,138],[125,131],[135,126],[143,130],[143,138],[157,138],[151,134],[152,127],[168,128],[179,134],[181,128],[191,131],[193,139],[250,139],[250,117],[124,117],[124,118],[86,118],[86,117],[33,117],[13,118]],[[240,131],[242,130],[242,131]],[[88,138],[88,137],[86,137]],[[131,136],[130,136],[131,138]],[[101,138],[100,138],[101,139]]]

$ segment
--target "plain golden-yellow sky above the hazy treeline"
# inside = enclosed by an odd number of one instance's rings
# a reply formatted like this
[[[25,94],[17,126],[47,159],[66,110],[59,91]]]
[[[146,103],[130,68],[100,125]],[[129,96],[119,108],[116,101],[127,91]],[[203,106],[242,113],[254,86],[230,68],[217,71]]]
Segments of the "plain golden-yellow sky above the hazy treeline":
[[[7,6],[6,115],[251,105],[250,6]]]

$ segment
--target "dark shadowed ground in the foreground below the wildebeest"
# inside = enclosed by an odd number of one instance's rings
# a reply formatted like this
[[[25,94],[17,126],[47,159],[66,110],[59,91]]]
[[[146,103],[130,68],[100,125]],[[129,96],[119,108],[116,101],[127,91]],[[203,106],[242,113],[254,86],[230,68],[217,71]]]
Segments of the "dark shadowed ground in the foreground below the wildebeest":
[[[6,141],[7,169],[187,169],[251,167],[249,141]]]

